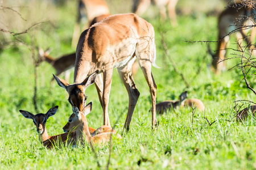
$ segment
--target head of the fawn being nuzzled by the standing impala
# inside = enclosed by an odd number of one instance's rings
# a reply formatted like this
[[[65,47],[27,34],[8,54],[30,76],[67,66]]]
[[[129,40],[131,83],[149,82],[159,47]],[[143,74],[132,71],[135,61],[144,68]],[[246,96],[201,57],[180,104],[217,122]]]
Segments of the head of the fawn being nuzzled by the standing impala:
[[[83,121],[86,121],[86,115],[92,111],[92,102],[90,102],[82,112],[79,111],[79,109],[76,107],[76,105],[72,106],[73,114],[68,118],[67,124],[63,127],[64,133],[67,133],[70,130],[75,130],[77,126],[84,123]]]

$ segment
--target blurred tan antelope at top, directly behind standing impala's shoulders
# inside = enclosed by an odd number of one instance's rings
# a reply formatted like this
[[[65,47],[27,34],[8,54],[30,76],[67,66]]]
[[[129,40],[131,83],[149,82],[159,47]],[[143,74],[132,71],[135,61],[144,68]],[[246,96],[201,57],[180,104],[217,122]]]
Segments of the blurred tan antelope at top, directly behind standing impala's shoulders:
[[[82,15],[85,13],[88,25],[92,20],[100,15],[109,15],[109,7],[105,0],[80,0],[78,6],[77,22],[74,27],[72,46],[77,44],[80,34],[80,23]]]

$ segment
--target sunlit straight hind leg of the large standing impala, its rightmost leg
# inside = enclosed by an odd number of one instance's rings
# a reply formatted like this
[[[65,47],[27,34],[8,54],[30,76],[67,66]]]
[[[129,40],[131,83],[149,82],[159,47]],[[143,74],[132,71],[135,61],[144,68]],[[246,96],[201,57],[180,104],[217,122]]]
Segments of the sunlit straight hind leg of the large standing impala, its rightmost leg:
[[[142,72],[144,77],[147,80],[148,87],[150,88],[150,95],[151,95],[151,103],[152,103],[152,128],[156,125],[156,83],[151,73],[151,62],[150,61],[142,61],[140,60],[139,64],[141,65]]]

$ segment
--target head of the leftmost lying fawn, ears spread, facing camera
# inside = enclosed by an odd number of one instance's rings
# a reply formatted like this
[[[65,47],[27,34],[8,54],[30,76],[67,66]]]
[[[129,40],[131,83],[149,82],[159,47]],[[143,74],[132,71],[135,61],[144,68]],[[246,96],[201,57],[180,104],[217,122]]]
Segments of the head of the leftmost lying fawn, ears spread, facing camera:
[[[44,113],[38,113],[36,115],[27,112],[27,111],[22,111],[19,110],[19,112],[25,117],[25,118],[31,118],[34,122],[34,124],[36,125],[36,131],[38,131],[38,133],[43,134],[44,131],[46,130],[46,121],[50,116],[53,116],[58,109],[59,106],[55,106],[51,109],[49,109],[49,111],[44,114]]]

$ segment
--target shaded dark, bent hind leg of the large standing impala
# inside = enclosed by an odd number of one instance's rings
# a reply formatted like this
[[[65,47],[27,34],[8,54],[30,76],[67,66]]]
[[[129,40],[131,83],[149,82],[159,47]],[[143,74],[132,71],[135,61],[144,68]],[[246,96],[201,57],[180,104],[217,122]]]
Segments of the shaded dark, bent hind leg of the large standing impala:
[[[139,99],[139,91],[134,83],[133,75],[131,74],[131,65],[120,67],[117,70],[129,96],[129,108],[125,120],[125,126],[123,126],[123,129],[128,131],[135,106]]]

